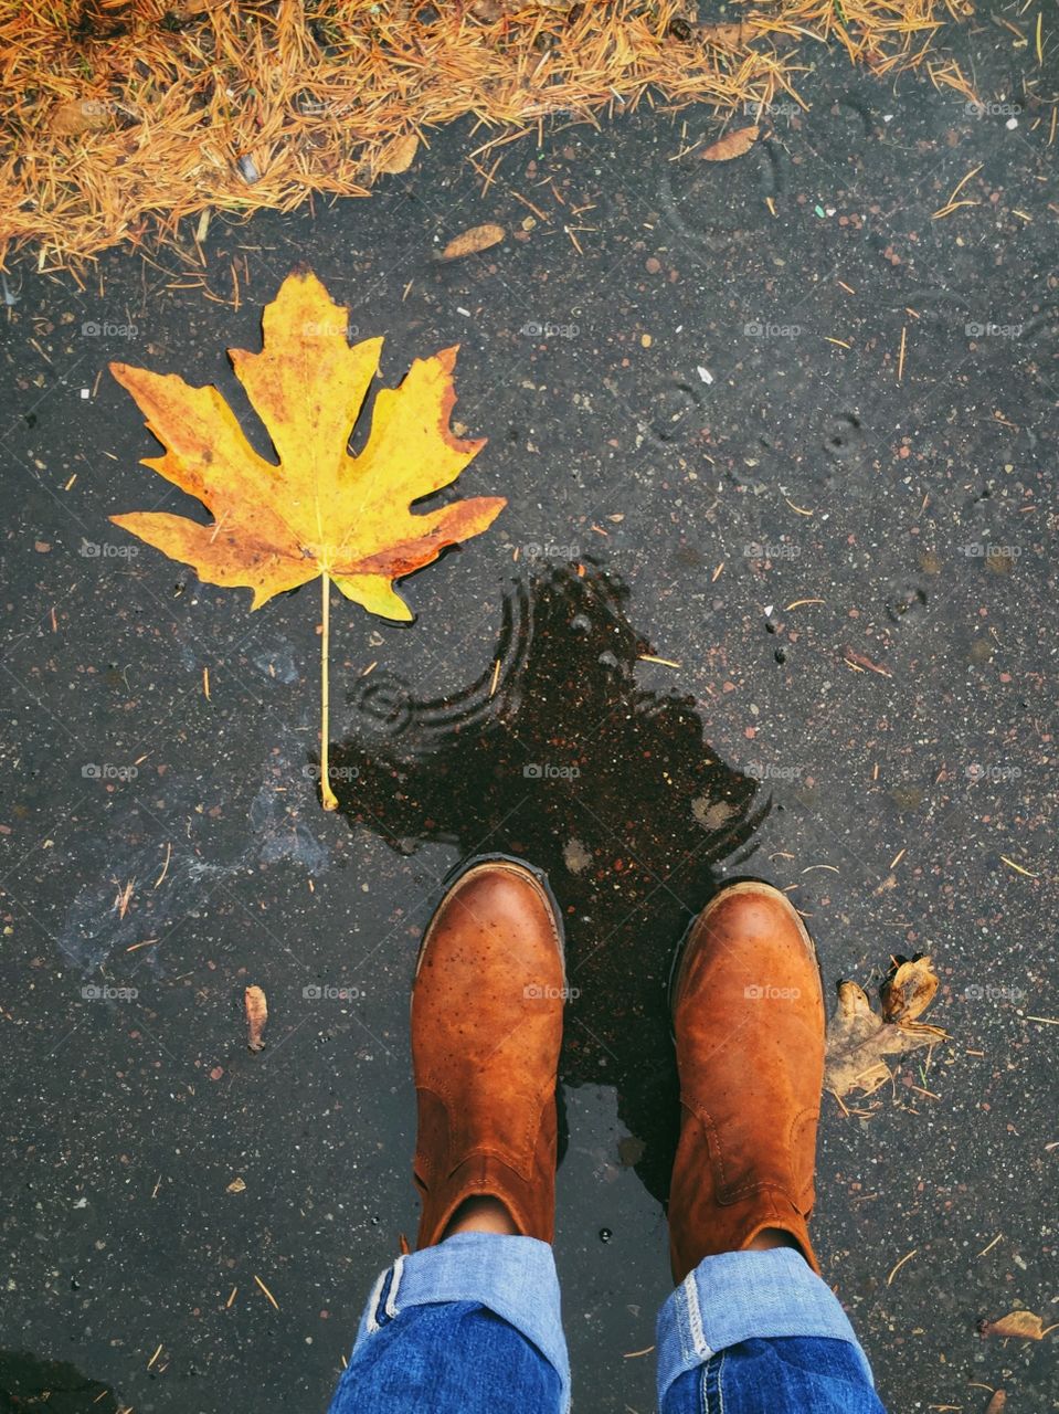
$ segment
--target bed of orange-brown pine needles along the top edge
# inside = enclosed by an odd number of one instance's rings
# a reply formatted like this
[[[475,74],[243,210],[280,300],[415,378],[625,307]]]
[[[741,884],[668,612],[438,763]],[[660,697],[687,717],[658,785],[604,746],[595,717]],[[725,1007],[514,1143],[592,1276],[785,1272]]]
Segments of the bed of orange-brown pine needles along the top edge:
[[[935,44],[963,13],[964,0],[758,0],[703,25],[681,0],[0,0],[0,269],[171,242],[208,211],[366,197],[465,115],[488,180],[498,146],[557,117],[599,122],[645,96],[718,112],[805,102],[821,42],[877,72],[926,65],[973,98]]]

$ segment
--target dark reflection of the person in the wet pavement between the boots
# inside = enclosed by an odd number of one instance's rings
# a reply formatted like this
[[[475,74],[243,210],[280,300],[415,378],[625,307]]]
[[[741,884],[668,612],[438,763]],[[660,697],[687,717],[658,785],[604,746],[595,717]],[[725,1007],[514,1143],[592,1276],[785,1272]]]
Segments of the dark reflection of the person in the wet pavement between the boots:
[[[693,699],[639,686],[652,649],[628,601],[595,566],[534,573],[506,595],[474,683],[420,700],[365,679],[331,759],[346,819],[399,853],[445,841],[547,870],[578,993],[561,1079],[616,1087],[636,1172],[663,1199],[679,1120],[669,966],[717,863],[751,853],[769,803],[717,758]]]

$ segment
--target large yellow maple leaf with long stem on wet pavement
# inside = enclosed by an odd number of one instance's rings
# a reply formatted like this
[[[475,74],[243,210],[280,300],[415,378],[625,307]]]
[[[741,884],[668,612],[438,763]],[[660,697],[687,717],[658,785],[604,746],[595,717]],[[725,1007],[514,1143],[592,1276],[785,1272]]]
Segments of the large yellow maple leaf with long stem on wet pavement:
[[[495,520],[506,501],[476,496],[435,510],[411,503],[448,486],[485,440],[458,438],[457,348],[416,359],[396,389],[382,389],[368,443],[349,436],[379,366],[382,339],[349,345],[346,311],[311,271],[288,276],[263,317],[262,351],[229,358],[279,458],[253,450],[216,387],[175,373],[112,363],[165,455],[151,467],[201,501],[212,525],[167,512],[110,516],[115,525],[192,566],[199,578],[253,591],[252,608],[321,577],[324,605],[321,795],[338,805],[327,772],[329,584],[369,612],[411,619],[393,581],[411,574]]]

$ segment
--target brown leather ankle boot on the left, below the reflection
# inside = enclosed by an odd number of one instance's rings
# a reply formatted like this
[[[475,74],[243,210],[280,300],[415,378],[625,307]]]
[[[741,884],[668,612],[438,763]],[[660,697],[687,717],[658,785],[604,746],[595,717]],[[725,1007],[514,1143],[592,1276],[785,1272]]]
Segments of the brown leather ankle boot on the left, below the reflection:
[[[411,993],[420,1247],[486,1195],[522,1236],[551,1241],[564,995],[561,921],[542,880],[512,860],[461,874],[430,921]]]

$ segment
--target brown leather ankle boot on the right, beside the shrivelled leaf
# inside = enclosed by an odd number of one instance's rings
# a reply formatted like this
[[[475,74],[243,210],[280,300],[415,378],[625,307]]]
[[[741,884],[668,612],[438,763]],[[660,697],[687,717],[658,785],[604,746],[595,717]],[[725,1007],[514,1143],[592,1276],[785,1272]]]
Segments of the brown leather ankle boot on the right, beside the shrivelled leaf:
[[[730,884],[696,919],[673,987],[683,1123],[669,1198],[673,1277],[779,1227],[809,1243],[824,1004],[786,896]]]

